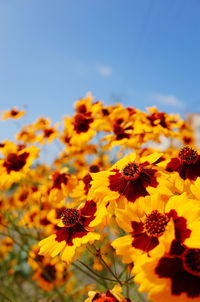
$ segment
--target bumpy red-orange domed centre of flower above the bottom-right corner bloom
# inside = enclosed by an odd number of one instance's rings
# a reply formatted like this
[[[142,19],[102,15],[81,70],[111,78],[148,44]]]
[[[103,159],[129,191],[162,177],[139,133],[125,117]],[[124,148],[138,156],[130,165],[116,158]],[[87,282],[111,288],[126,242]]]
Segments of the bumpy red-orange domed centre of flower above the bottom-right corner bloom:
[[[151,237],[161,236],[166,228],[169,218],[165,214],[159,213],[157,210],[151,212],[147,215],[147,218],[144,222],[144,229],[147,234]]]

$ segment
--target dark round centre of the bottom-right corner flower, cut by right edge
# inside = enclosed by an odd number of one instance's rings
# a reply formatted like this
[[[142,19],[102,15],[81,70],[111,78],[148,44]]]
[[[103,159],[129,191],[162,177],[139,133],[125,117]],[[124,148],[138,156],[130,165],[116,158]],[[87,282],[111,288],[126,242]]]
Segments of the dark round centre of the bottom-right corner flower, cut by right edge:
[[[183,260],[186,271],[192,275],[200,276],[200,249],[186,249]]]

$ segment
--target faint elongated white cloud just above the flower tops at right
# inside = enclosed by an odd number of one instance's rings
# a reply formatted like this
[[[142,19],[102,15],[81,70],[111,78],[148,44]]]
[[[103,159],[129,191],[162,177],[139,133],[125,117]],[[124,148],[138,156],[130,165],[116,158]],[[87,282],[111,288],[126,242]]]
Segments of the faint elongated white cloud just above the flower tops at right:
[[[171,95],[171,94],[166,95],[161,93],[154,93],[152,95],[152,99],[163,105],[169,105],[177,108],[185,107],[185,103],[182,100],[177,98],[175,95]]]

